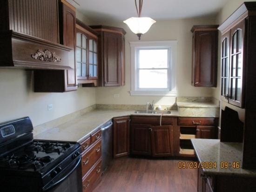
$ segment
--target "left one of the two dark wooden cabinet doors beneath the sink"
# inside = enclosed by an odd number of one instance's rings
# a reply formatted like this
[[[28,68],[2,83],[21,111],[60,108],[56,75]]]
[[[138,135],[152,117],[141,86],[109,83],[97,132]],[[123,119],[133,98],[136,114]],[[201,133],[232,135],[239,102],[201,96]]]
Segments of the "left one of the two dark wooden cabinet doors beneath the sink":
[[[150,127],[151,125],[131,124],[131,154],[151,155]]]

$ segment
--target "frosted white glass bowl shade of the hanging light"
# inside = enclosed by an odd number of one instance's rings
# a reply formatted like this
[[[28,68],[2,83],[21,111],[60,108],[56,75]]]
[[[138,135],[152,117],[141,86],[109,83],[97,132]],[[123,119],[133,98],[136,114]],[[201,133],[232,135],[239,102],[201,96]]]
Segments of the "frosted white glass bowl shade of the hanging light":
[[[150,17],[131,17],[123,22],[128,25],[133,33],[144,34],[155,23],[155,20]]]

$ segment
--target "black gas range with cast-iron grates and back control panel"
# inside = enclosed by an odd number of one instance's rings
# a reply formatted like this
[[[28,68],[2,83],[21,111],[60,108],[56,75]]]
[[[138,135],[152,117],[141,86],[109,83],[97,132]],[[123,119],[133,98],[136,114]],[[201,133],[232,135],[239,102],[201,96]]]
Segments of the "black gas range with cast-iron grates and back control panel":
[[[0,124],[1,191],[80,192],[80,144],[35,140],[32,131],[28,117]]]

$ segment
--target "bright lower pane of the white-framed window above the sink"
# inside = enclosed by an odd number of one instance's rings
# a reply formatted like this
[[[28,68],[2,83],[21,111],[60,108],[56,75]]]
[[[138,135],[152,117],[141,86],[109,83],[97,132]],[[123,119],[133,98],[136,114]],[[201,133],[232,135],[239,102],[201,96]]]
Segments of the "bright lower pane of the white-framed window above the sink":
[[[167,69],[139,70],[139,88],[168,88]]]

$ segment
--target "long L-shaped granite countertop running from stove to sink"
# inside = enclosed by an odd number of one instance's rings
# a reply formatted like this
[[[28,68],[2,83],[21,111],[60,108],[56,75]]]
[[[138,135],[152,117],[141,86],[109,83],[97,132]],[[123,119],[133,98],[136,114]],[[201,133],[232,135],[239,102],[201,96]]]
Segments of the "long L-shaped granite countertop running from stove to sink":
[[[163,116],[178,116],[177,111],[171,112],[171,114],[163,114]],[[34,135],[34,139],[81,142],[90,133],[94,132],[95,129],[107,123],[110,119],[129,115],[160,116],[161,114],[139,114],[135,113],[135,110],[95,109],[60,126],[55,126],[36,134]]]

